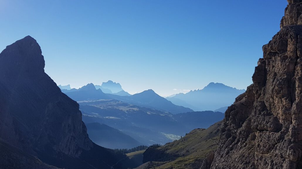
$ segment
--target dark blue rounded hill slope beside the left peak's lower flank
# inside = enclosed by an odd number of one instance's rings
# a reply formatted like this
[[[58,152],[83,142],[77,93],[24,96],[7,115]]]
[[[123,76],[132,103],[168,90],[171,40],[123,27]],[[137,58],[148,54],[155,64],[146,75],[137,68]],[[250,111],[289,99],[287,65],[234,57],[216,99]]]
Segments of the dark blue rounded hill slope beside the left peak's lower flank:
[[[86,124],[89,138],[96,144],[110,149],[130,149],[142,145],[129,135],[106,124]]]

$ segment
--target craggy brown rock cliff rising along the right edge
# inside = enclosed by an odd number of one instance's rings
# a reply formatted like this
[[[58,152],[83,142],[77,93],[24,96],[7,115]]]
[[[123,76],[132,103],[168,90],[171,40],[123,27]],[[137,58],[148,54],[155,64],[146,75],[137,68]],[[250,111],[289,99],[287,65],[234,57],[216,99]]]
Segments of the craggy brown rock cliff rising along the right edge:
[[[302,167],[302,0],[288,3],[253,84],[225,112],[212,169]]]

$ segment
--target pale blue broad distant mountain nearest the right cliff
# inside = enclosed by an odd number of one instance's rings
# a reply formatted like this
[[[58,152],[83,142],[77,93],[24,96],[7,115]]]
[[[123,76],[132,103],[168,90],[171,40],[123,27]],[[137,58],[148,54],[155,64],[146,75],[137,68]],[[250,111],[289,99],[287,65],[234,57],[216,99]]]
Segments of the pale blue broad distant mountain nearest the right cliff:
[[[167,97],[166,99],[175,105],[185,106],[195,111],[216,110],[230,106],[235,98],[244,92],[244,89],[239,90],[222,83],[211,82],[201,90],[176,94],[174,97]]]

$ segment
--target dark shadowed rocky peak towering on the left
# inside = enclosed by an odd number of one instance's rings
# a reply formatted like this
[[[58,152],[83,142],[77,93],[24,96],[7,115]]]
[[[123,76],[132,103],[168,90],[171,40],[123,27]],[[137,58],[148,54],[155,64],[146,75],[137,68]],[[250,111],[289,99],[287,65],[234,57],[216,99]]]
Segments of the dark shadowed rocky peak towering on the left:
[[[41,53],[27,36],[0,54],[0,141],[57,167],[110,168],[122,156],[88,138],[79,105],[44,72]]]

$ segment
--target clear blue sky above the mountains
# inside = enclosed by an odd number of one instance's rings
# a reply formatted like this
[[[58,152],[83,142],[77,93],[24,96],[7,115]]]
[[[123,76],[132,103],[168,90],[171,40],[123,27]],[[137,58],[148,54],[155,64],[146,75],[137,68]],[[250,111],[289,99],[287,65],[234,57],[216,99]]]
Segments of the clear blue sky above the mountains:
[[[119,82],[162,96],[252,83],[286,0],[0,0],[0,50],[27,35],[59,85]]]

